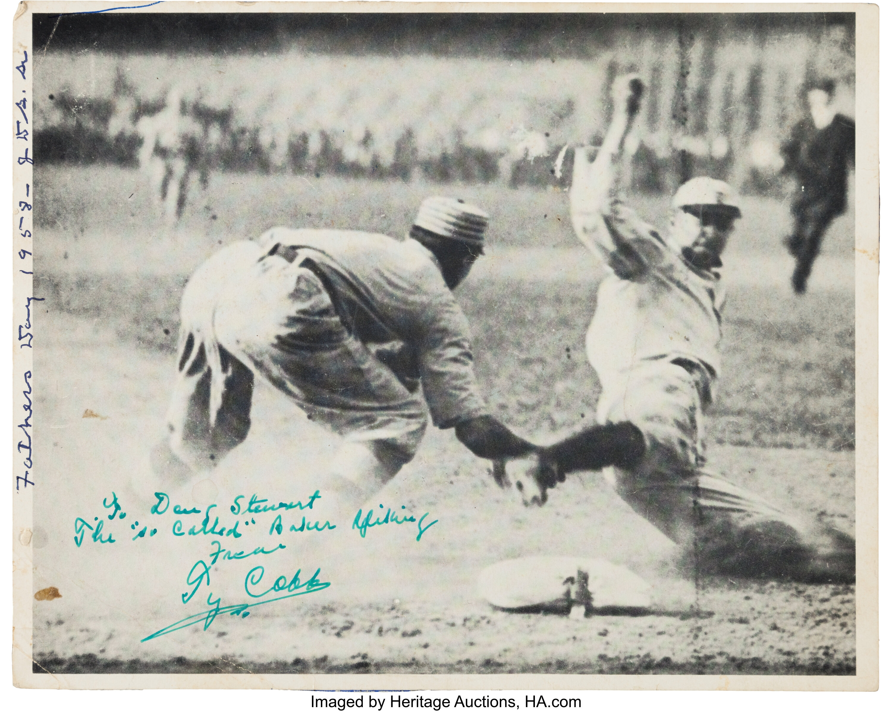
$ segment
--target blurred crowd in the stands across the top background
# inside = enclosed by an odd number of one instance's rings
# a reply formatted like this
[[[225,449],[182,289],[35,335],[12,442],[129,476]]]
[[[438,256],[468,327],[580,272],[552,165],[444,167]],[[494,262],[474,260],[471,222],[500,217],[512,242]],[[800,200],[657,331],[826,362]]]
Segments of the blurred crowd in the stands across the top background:
[[[847,23],[617,27],[586,56],[423,51],[37,53],[35,158],[139,168],[178,215],[214,171],[564,184],[566,144],[598,145],[617,73],[648,84],[633,182],[671,191],[693,173],[774,193],[780,145],[807,82],[854,113]]]

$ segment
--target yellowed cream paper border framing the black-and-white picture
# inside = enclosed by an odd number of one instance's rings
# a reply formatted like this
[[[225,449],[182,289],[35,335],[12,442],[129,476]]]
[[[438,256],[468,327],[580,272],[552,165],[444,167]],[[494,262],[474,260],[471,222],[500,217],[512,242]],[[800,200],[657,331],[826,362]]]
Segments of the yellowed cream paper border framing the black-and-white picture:
[[[14,18],[12,62],[29,58],[32,12],[78,12],[134,3],[22,2]],[[449,4],[425,3],[164,3],[140,12],[855,12],[856,13],[856,122],[858,126],[855,172],[856,243],[856,539],[857,553],[857,674],[829,676],[687,676],[687,675],[297,675],[297,674],[33,674],[32,632],[32,487],[13,492],[14,627],[12,666],[20,687],[56,689],[427,689],[427,690],[875,690],[879,683],[878,634],[878,277],[879,277],[879,8],[872,4]],[[29,68],[30,62],[24,64]],[[15,101],[29,96],[31,76],[13,76]],[[22,92],[25,94],[22,94]],[[13,125],[21,120],[12,106]],[[16,156],[24,141],[13,137]],[[16,145],[17,144],[17,145]],[[23,155],[22,155],[23,157]],[[32,167],[28,161],[13,166],[14,226],[29,227],[31,212],[20,201],[33,203]],[[25,186],[29,186],[26,188]],[[29,249],[29,240],[16,230],[14,249]],[[21,271],[29,260],[14,260],[13,328],[28,333],[26,315],[31,277]],[[20,269],[21,268],[21,269]],[[17,331],[18,333],[18,331]],[[15,343],[13,356],[12,467],[23,475],[22,404],[24,374],[30,371],[32,351]],[[39,343],[39,341],[36,341]],[[37,345],[39,347],[39,345]],[[21,385],[21,387],[20,387]],[[40,382],[34,384],[39,389]],[[31,395],[33,397],[33,395]],[[33,436],[33,429],[31,430]],[[15,480],[12,481],[14,486]],[[22,482],[20,481],[20,484]]]

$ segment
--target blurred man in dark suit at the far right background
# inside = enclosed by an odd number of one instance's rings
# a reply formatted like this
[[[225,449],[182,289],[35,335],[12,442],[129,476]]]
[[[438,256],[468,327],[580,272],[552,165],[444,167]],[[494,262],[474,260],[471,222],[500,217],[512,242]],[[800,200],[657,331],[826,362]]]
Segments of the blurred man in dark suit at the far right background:
[[[855,121],[837,113],[835,83],[822,79],[807,88],[809,115],[799,121],[780,147],[781,175],[796,178],[791,211],[795,225],[785,239],[796,258],[793,290],[805,293],[812,265],[830,222],[846,211],[849,166],[855,167]]]

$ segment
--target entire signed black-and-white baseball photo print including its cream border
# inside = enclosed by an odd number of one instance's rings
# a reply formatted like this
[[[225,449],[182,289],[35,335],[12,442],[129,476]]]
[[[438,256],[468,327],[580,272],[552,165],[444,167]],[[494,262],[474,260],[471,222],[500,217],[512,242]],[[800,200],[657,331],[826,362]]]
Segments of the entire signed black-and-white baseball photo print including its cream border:
[[[17,683],[868,684],[876,8],[244,5],[28,9]]]

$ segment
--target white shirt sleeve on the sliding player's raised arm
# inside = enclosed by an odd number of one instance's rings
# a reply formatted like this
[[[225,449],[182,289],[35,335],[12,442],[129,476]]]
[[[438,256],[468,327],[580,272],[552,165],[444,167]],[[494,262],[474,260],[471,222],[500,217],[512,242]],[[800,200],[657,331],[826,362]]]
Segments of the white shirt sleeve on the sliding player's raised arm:
[[[618,189],[618,177],[592,170],[587,155],[574,162],[570,213],[576,236],[617,277],[636,280],[665,265],[667,247],[654,227],[640,219]],[[619,170],[611,165],[608,170]]]

